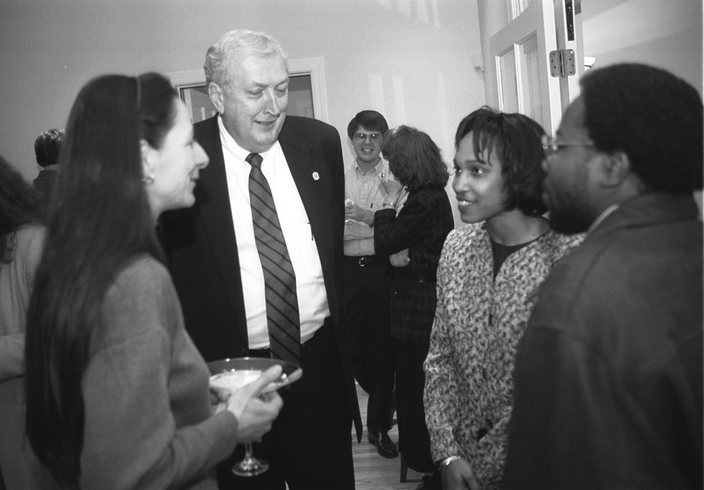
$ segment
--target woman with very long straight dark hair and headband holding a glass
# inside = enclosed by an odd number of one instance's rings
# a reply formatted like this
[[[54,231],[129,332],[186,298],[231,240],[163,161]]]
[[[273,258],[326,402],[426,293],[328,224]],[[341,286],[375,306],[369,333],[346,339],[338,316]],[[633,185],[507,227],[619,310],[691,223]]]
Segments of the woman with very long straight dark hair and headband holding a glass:
[[[168,80],[105,75],[73,105],[27,312],[27,437],[63,486],[215,489],[210,470],[269,430],[270,370],[213,414],[154,228],[199,169]],[[221,407],[222,408],[222,407]]]

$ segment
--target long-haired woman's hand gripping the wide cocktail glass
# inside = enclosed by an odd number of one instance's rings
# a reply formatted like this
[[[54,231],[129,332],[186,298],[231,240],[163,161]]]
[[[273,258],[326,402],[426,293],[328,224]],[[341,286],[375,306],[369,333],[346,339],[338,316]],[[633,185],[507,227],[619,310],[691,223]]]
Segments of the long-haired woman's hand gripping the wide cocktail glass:
[[[269,432],[284,401],[277,392],[260,396],[262,389],[281,375],[281,366],[266,370],[260,378],[241,387],[227,399],[227,410],[237,417],[238,442],[259,441]]]

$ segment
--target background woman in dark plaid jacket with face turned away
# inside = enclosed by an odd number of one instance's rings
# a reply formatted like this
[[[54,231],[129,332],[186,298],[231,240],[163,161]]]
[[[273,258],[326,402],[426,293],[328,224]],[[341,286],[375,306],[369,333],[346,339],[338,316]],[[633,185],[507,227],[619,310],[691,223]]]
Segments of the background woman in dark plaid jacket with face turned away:
[[[413,127],[389,131],[382,154],[396,179],[408,189],[398,216],[392,202],[385,202],[384,209],[374,215],[377,254],[408,249],[408,262],[394,270],[391,280],[398,442],[409,468],[434,472],[423,411],[423,361],[435,316],[435,272],[445,237],[454,226],[445,192],[450,174],[432,138]]]

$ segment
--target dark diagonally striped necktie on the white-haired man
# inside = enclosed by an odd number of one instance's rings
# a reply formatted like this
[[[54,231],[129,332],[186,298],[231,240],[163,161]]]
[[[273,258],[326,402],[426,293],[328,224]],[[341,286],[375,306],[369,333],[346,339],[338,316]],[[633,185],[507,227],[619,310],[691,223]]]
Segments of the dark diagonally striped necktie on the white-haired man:
[[[254,239],[264,271],[266,316],[272,356],[301,365],[301,319],[298,317],[296,273],[291,264],[271,188],[262,173],[262,156],[250,153],[249,199]]]

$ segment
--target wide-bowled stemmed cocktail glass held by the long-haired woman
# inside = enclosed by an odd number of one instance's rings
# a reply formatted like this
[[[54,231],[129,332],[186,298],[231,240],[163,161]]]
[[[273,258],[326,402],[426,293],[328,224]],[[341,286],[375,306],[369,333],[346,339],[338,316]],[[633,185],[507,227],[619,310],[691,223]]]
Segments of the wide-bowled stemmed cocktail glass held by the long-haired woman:
[[[282,373],[277,380],[270,382],[269,385],[262,389],[262,395],[290,385],[303,376],[303,370],[288,361],[263,357],[237,357],[208,363],[208,368],[212,375],[210,376],[210,387],[218,391],[235,392],[237,389],[256,380],[265,370],[277,364],[282,367]],[[247,442],[244,444],[244,458],[234,463],[230,470],[238,477],[256,477],[256,475],[261,475],[268,469],[269,463],[255,458],[252,451],[252,443]]]

